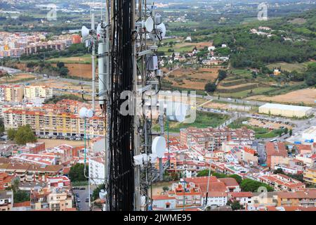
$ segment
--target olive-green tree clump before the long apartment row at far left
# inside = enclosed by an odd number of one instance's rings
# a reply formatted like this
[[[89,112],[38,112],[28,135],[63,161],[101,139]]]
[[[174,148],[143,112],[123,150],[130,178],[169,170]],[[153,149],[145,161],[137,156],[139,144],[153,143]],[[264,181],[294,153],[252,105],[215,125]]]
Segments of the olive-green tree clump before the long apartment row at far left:
[[[33,143],[37,141],[37,137],[34,135],[29,124],[21,126],[17,130],[8,129],[7,134],[8,139],[15,141],[19,145],[25,145],[26,143]]]

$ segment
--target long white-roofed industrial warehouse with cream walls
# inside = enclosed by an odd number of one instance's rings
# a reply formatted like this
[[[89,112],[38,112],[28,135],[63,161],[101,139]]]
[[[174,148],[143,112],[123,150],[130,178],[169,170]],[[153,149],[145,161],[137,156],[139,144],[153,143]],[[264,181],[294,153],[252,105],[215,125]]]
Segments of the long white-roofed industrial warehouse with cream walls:
[[[312,107],[266,103],[259,107],[259,113],[283,117],[309,117],[312,115]]]

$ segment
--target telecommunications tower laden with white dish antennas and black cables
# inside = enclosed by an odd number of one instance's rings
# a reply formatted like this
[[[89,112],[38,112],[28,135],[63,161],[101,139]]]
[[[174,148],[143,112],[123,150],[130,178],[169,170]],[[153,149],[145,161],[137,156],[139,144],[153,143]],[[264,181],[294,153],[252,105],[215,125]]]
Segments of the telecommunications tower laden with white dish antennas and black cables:
[[[98,94],[93,90],[92,99],[98,97],[106,123],[105,190],[100,196],[105,210],[150,210],[150,186],[169,167],[162,163],[168,142],[166,105],[157,97],[163,77],[157,49],[166,27],[146,0],[105,0],[101,12],[105,15],[96,30],[81,30],[98,59]],[[183,105],[175,107],[169,120],[183,122]],[[155,122],[160,127],[156,133]]]

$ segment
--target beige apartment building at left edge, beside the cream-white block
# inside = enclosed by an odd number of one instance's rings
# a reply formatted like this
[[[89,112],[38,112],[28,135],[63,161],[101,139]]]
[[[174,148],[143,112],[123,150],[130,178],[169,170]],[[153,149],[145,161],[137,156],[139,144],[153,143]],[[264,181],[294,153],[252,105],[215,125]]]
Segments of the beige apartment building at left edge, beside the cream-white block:
[[[0,85],[0,102],[20,103],[23,100],[24,87],[20,84]]]

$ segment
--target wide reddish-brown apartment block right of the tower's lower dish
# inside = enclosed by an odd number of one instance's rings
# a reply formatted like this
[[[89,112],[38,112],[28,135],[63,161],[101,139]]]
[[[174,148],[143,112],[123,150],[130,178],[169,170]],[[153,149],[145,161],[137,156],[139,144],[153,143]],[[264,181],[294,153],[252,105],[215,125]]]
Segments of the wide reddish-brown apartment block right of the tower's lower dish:
[[[243,127],[241,129],[180,129],[180,142],[192,146],[202,144],[206,150],[220,150],[225,141],[254,141],[254,131]]]

